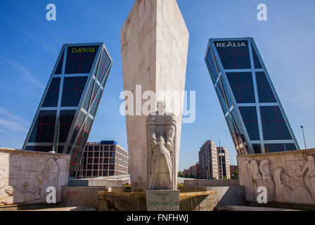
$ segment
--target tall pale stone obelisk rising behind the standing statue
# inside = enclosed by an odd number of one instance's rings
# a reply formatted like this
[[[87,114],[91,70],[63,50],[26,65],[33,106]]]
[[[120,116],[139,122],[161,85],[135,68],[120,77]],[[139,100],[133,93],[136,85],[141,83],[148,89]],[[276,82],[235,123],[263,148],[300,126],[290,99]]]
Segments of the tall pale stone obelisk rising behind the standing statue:
[[[151,109],[151,112],[155,112],[158,101],[165,101],[158,95],[159,91],[184,91],[189,33],[176,0],[136,0],[120,36],[124,91],[132,92],[135,103],[134,115],[126,115],[131,187],[132,191],[146,191],[148,115],[143,115],[141,110],[148,100],[143,99],[145,97],[142,95],[145,91],[157,94],[155,108]],[[180,101],[174,137],[175,165],[172,167],[176,181],[184,98],[169,101]],[[165,110],[172,113],[172,109],[167,108],[172,104],[174,102],[165,101]],[[167,149],[172,150],[168,145]]]

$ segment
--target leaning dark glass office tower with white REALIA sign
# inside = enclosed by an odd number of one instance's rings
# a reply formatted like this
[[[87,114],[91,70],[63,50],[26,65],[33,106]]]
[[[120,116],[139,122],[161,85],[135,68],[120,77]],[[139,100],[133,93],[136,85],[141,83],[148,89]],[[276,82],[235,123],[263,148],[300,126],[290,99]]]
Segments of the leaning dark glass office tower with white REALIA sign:
[[[205,61],[239,155],[300,149],[252,38],[210,39]]]

